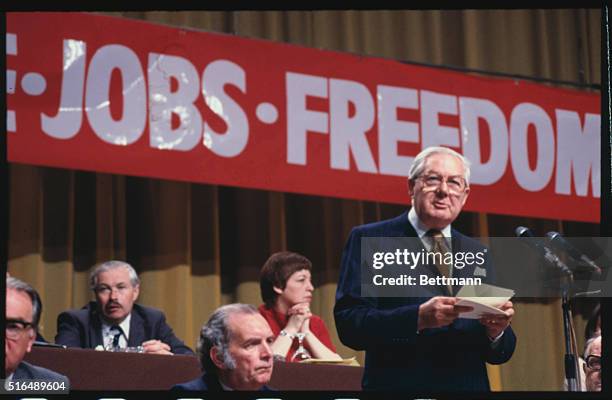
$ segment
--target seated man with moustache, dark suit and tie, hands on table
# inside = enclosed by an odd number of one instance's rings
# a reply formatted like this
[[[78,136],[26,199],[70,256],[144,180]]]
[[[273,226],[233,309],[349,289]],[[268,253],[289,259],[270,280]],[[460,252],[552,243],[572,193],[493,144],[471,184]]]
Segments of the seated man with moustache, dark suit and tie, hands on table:
[[[90,286],[96,301],[57,317],[55,343],[104,349],[142,346],[145,353],[193,354],[174,335],[161,311],[135,304],[140,279],[130,264],[107,261],[98,265],[91,273]]]

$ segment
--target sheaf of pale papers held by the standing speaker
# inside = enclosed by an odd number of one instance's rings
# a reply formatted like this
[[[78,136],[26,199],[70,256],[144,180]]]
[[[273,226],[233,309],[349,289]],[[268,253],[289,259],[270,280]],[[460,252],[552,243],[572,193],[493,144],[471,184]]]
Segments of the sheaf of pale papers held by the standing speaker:
[[[459,318],[479,319],[484,314],[504,315],[499,309],[514,296],[514,290],[498,286],[466,285],[457,293],[457,306],[472,307],[472,311],[461,313]]]

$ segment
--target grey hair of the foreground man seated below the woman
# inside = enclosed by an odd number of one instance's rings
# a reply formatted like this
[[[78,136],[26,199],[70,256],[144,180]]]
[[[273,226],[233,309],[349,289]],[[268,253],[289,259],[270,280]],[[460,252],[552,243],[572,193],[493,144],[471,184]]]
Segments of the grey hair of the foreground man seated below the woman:
[[[213,312],[208,322],[200,330],[197,351],[202,368],[208,373],[216,373],[217,366],[210,358],[210,350],[217,348],[219,358],[228,369],[236,368],[236,361],[229,352],[232,331],[228,327],[229,317],[234,314],[259,314],[250,304],[234,303],[221,306]]]

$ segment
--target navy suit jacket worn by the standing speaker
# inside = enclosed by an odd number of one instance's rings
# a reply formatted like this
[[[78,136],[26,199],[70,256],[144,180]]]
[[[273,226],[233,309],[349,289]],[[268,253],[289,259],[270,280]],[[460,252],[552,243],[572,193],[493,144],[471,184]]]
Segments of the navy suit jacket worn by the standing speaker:
[[[366,350],[364,389],[489,390],[485,362],[501,364],[510,359],[516,346],[512,328],[505,330],[495,346],[478,320],[459,318],[449,326],[417,333],[419,305],[432,296],[448,296],[448,291],[434,286],[429,297],[361,297],[362,237],[417,237],[417,234],[404,212],[387,221],[354,228],[344,248],[334,317],[342,343]],[[452,237],[453,252],[484,249],[456,230]],[[475,265],[453,270],[453,276],[474,276],[474,269]],[[438,274],[437,269],[433,271],[429,270],[429,274]],[[489,266],[486,272],[490,278]]]

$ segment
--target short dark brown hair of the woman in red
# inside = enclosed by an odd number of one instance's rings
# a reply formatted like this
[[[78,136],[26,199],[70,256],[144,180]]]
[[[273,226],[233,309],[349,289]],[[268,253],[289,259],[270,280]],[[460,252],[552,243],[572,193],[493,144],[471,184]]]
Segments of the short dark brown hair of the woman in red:
[[[294,272],[307,269],[312,270],[312,263],[301,254],[291,251],[281,251],[274,253],[268,258],[259,274],[259,288],[261,298],[266,307],[272,308],[278,294],[274,287],[284,289],[287,280]]]

